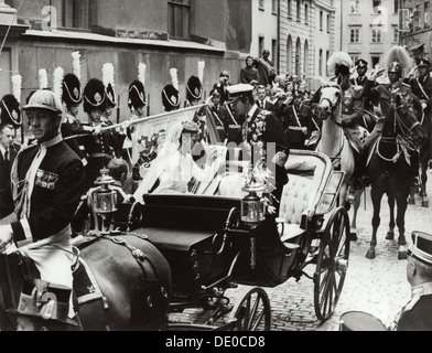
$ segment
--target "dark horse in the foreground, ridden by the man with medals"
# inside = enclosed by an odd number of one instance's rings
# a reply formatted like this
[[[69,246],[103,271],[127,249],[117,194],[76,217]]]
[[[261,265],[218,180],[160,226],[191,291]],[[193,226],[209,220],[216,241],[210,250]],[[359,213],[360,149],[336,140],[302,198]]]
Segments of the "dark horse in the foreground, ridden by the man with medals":
[[[88,289],[87,300],[78,310],[84,331],[163,330],[168,325],[171,300],[171,269],[162,254],[145,239],[133,233],[117,236],[86,237],[76,245],[80,263],[74,272],[74,289]],[[14,330],[6,309],[17,307],[24,279],[29,274],[21,255],[0,255],[0,324],[2,331]],[[83,281],[76,272],[90,268],[95,281]],[[34,277],[33,277],[34,278]],[[97,290],[100,289],[97,296]],[[84,298],[84,297],[82,297]]]

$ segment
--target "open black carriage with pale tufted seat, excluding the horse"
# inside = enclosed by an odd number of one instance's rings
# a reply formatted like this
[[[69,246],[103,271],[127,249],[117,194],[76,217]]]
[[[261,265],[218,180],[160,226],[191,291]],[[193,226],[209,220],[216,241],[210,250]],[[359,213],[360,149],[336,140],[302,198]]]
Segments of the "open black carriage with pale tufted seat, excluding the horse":
[[[316,317],[325,321],[334,312],[349,257],[348,215],[336,206],[343,172],[334,171],[322,153],[292,150],[280,214],[251,222],[246,203],[259,208],[262,200],[253,201],[245,191],[245,165],[227,161],[227,172],[194,193],[144,192],[128,222],[119,223],[123,235],[148,239],[168,260],[170,312],[210,312],[205,324],[171,323],[163,329],[270,330],[271,306],[261,287],[302,276],[314,281]],[[313,275],[304,270],[309,265],[315,266]],[[237,285],[249,290],[234,306],[225,292]]]

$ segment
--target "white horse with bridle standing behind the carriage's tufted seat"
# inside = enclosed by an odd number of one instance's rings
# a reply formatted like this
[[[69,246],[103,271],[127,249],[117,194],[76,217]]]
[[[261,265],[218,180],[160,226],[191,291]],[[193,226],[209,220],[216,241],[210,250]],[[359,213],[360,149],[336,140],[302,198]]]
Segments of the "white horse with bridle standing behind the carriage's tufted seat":
[[[327,82],[322,86],[317,107],[323,126],[316,151],[326,154],[332,160],[333,168],[344,172],[338,204],[348,208],[346,195],[354,173],[355,162],[353,148],[341,125],[342,89],[338,84]]]

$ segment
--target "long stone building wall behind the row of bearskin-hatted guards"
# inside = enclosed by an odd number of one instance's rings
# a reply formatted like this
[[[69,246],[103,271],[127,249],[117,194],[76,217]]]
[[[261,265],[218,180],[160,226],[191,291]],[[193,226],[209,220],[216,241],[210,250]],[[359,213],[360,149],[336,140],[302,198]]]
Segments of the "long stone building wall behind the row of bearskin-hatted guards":
[[[1,55],[7,63],[0,65],[9,76],[22,76],[21,101],[39,88],[39,69],[46,69],[52,87],[54,69],[72,72],[72,53],[79,51],[83,87],[89,78],[101,79],[105,63],[114,64],[120,121],[130,116],[128,89],[140,63],[147,65],[148,114],[154,115],[163,111],[161,92],[171,83],[170,68],[177,68],[184,103],[198,62],[205,63],[207,96],[223,69],[239,75],[251,47],[250,0],[6,0],[0,1],[0,31],[7,33],[11,22],[1,17],[2,8],[14,12],[15,23]],[[10,93],[4,83],[1,93]]]

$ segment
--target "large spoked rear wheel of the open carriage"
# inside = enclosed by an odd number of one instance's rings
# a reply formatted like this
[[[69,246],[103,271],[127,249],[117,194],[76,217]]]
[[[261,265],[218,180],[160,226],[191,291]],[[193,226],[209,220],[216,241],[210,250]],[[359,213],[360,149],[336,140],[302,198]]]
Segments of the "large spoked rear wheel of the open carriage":
[[[330,217],[321,239],[314,274],[315,314],[321,321],[334,312],[344,286],[349,257],[349,220],[344,207]]]

